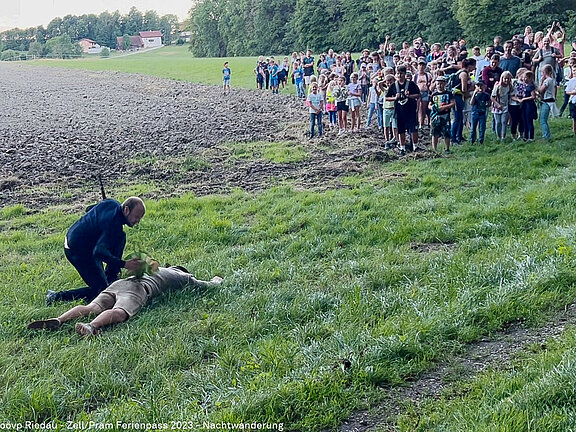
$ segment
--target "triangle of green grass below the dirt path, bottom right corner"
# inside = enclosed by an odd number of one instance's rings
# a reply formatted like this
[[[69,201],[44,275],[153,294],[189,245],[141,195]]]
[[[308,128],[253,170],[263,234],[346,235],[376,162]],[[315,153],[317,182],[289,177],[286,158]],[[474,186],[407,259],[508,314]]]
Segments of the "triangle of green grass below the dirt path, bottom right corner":
[[[565,432],[576,428],[576,333],[538,344],[507,368],[459,383],[408,410],[402,431]],[[414,425],[418,424],[418,427]]]

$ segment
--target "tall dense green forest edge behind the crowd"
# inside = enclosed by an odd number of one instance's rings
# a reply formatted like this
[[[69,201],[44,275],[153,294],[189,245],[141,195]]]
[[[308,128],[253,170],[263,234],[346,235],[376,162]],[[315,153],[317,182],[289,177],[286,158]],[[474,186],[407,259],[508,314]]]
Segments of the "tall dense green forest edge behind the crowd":
[[[375,48],[422,36],[487,44],[526,25],[560,21],[576,36],[574,0],[199,0],[190,10],[190,51],[198,57]]]

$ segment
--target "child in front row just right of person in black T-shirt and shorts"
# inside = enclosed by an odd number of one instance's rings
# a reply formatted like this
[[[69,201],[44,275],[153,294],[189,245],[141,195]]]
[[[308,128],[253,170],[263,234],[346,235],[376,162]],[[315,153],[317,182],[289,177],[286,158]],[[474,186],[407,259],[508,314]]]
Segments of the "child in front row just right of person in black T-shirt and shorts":
[[[454,95],[446,90],[446,77],[436,78],[436,91],[430,96],[430,135],[432,136],[432,149],[438,148],[440,137],[444,138],[446,154],[450,153],[450,110],[456,106]]]

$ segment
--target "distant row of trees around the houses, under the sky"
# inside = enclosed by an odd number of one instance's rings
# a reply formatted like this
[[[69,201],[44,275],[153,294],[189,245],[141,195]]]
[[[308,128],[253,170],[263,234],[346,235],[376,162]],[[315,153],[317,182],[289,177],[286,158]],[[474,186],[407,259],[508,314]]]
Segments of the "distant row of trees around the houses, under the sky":
[[[159,16],[153,10],[140,12],[132,7],[126,15],[102,12],[99,15],[66,15],[54,18],[46,28],[10,29],[0,33],[0,52],[29,52],[37,56],[75,51],[74,43],[88,38],[102,46],[116,48],[116,38],[137,35],[141,31],[160,30],[164,43],[170,44],[178,30],[178,17],[168,14]],[[52,42],[51,42],[52,41]]]

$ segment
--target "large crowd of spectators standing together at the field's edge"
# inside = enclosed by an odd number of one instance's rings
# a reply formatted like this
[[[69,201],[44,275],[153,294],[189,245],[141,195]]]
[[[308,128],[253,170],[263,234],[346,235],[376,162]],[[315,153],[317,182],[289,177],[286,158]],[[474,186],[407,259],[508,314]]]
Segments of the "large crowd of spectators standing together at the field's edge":
[[[386,148],[401,153],[416,150],[419,131],[429,129],[433,148],[443,139],[449,153],[465,140],[483,143],[490,112],[498,140],[534,140],[535,120],[548,140],[550,116],[565,112],[576,134],[576,39],[565,38],[558,22],[546,32],[528,26],[504,42],[496,36],[484,50],[469,50],[465,40],[430,44],[420,37],[398,50],[386,36],[377,51],[365,49],[356,60],[350,52],[330,49],[315,58],[307,50],[280,62],[260,57],[254,73],[259,89],[278,93],[294,85],[310,113],[311,139],[323,135],[328,116],[338,134],[377,127]]]

